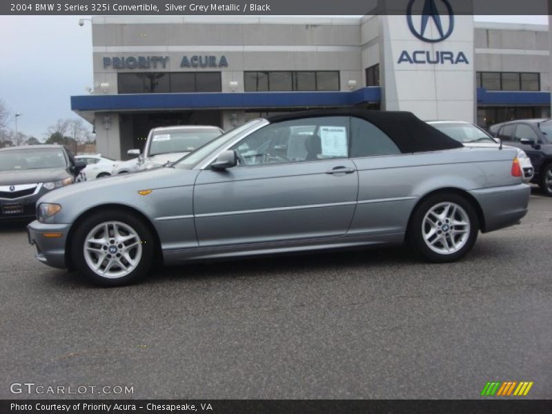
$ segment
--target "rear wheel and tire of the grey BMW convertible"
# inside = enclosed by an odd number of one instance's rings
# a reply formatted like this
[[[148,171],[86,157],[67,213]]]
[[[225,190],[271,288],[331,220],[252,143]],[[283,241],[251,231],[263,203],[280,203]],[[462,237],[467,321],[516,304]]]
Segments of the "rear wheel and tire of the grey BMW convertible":
[[[478,233],[477,212],[466,197],[437,193],[415,209],[408,242],[428,262],[448,263],[462,259]]]

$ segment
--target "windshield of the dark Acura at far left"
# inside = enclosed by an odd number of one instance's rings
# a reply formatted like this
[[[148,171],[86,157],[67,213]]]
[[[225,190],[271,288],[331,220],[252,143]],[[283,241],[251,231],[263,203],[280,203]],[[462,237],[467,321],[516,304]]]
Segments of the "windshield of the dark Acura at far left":
[[[66,166],[67,161],[61,148],[0,151],[0,171],[66,168]]]

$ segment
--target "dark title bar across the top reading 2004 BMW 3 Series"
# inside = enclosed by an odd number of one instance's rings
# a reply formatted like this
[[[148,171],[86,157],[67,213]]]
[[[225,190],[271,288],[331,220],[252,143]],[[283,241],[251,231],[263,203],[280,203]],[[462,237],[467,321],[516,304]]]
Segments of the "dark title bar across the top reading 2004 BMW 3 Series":
[[[408,6],[421,14],[431,0],[20,0],[1,1],[5,15],[364,15],[405,14]],[[552,0],[433,0],[438,9],[455,14],[548,15]]]

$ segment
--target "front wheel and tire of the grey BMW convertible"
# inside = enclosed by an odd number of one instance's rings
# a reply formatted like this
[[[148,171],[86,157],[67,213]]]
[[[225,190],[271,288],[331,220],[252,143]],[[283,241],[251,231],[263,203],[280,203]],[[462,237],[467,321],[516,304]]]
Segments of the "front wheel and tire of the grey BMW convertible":
[[[150,270],[153,240],[150,228],[136,215],[115,209],[97,211],[75,229],[71,240],[72,262],[92,284],[134,283]]]

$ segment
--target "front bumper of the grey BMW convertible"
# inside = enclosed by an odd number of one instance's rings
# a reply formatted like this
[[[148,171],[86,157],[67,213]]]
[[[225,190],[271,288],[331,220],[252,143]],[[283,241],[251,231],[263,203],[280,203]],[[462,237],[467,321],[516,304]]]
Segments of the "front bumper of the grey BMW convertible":
[[[66,268],[66,241],[70,224],[44,224],[32,221],[27,226],[29,243],[37,247],[37,259],[55,268]],[[46,237],[50,233],[61,233],[60,237]]]

